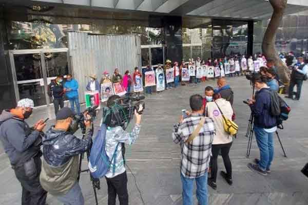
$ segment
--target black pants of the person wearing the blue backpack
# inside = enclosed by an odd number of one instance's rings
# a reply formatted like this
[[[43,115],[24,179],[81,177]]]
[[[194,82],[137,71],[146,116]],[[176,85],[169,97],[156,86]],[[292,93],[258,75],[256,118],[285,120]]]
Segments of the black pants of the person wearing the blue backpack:
[[[106,177],[106,181],[108,185],[108,205],[115,205],[115,198],[117,197],[117,194],[120,205],[127,205],[128,192],[126,172],[113,178]]]

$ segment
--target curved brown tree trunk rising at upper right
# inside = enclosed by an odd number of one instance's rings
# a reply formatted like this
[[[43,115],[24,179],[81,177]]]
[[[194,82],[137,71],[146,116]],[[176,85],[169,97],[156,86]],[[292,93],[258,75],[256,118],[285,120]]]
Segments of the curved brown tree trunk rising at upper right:
[[[274,11],[263,36],[262,52],[267,59],[273,59],[278,70],[279,78],[283,83],[290,82],[290,70],[281,61],[275,49],[276,32],[283,17],[283,13],[287,4],[287,0],[269,0],[268,1]]]

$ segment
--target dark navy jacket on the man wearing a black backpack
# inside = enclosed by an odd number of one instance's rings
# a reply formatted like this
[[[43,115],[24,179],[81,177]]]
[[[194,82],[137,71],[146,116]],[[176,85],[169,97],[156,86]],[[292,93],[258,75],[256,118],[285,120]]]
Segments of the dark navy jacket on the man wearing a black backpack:
[[[271,114],[271,96],[269,88],[262,88],[256,92],[256,102],[251,105],[254,124],[259,128],[272,128],[277,125],[276,116]]]

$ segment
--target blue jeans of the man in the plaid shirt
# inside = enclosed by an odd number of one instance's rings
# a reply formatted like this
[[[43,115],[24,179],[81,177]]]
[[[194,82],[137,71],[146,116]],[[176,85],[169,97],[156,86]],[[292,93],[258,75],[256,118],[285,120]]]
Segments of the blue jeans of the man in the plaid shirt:
[[[184,177],[181,173],[183,205],[194,204],[194,198],[192,197],[194,194],[194,180],[196,180],[196,192],[199,204],[207,205],[207,172],[203,176],[195,179]]]

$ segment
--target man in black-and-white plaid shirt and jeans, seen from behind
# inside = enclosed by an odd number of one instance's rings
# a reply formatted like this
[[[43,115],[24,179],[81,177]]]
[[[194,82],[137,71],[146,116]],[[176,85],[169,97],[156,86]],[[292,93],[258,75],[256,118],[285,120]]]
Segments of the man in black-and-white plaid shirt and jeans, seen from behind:
[[[194,180],[197,184],[197,198],[201,205],[207,205],[207,171],[211,155],[215,127],[212,119],[203,117],[203,98],[192,95],[189,99],[191,114],[182,115],[174,125],[172,138],[181,144],[181,180],[183,205],[194,202]]]

